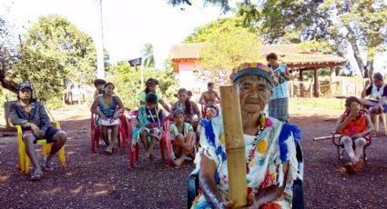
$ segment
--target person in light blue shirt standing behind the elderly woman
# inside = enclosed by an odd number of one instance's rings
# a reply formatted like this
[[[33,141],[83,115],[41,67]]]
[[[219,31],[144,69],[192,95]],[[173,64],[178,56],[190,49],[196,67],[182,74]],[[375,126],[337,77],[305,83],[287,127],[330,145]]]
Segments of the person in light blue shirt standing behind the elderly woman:
[[[273,82],[276,85],[273,89],[273,95],[270,97],[269,116],[287,121],[289,119],[289,90],[288,81],[291,76],[286,65],[278,62],[278,57],[274,53],[266,56],[268,66],[273,71]]]

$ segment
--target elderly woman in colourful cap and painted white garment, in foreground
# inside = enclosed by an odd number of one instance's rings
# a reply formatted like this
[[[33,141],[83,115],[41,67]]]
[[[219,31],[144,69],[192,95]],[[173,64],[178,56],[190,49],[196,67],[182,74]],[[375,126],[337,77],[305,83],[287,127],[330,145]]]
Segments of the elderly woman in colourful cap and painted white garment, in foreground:
[[[300,129],[262,114],[272,93],[269,69],[243,64],[234,70],[246,150],[248,203],[252,208],[291,208]],[[202,194],[194,208],[231,208],[222,116],[204,121],[195,163]]]

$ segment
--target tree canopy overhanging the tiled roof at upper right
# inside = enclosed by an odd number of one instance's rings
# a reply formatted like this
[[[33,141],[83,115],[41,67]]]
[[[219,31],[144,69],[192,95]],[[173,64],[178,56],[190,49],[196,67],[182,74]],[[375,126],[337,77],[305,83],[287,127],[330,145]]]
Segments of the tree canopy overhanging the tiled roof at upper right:
[[[239,5],[239,15],[245,24],[256,25],[265,42],[328,43],[339,55],[352,49],[361,72],[367,66],[371,73],[375,55],[386,50],[387,5],[383,0],[247,2]]]

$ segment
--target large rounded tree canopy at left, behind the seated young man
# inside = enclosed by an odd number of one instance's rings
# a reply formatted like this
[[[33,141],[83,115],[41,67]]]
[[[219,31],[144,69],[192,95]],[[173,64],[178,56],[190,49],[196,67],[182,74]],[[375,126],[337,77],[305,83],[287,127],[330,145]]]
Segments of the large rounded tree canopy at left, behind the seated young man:
[[[27,31],[10,77],[31,81],[46,100],[58,96],[66,81],[91,83],[95,78],[96,48],[89,35],[66,18],[47,15]]]

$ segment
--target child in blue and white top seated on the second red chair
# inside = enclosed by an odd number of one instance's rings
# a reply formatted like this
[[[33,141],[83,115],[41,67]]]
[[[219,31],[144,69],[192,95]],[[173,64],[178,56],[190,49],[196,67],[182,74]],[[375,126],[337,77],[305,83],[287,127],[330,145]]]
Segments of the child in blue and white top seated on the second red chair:
[[[144,144],[146,157],[153,158],[153,146],[163,135],[164,114],[158,107],[158,96],[153,93],[146,95],[146,104],[138,108],[139,138]]]

